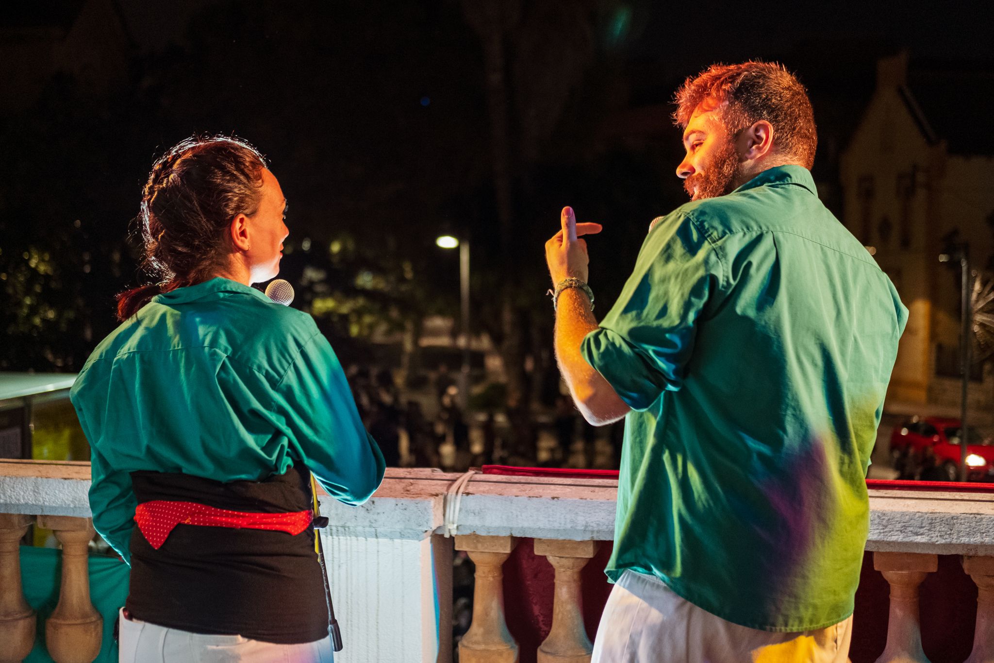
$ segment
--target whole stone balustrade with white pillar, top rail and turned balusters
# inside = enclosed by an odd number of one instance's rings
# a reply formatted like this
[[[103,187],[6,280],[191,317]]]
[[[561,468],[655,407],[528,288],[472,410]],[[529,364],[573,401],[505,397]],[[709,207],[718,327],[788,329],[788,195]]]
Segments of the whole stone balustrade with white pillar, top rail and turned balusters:
[[[476,568],[473,621],[459,642],[460,660],[518,661],[502,574],[523,545],[548,559],[555,574],[551,628],[528,653],[542,663],[588,661],[593,634],[583,627],[580,570],[597,542],[611,539],[616,482],[476,475],[456,496],[450,489],[458,478],[390,469],[365,505],[320,498],[333,523],[322,537],[345,641],[336,662],[450,661],[453,550],[465,551]],[[64,551],[59,607],[45,625],[50,653],[57,661],[95,656],[98,616],[79,564],[90,536],[87,488],[85,463],[0,461],[0,662],[21,660],[34,639],[36,616],[22,595],[17,556],[32,518],[57,531]],[[940,555],[961,556],[978,587],[968,662],[994,660],[994,495],[872,490],[870,501],[867,550],[891,586],[887,645],[878,661],[927,660],[918,586]],[[68,642],[80,644],[63,646]]]

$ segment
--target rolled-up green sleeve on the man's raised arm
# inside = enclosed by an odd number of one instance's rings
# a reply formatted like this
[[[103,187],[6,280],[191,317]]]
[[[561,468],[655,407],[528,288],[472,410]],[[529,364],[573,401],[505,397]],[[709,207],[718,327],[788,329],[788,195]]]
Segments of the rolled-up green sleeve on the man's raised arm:
[[[722,262],[694,220],[674,212],[642,245],[635,270],[580,351],[635,411],[683,385],[702,311],[720,288]]]

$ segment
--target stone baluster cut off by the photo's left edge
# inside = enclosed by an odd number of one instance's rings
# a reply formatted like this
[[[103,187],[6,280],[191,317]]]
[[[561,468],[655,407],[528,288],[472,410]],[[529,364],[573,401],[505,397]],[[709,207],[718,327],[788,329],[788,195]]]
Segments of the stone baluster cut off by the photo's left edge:
[[[20,663],[35,645],[35,611],[21,586],[21,538],[33,520],[0,513],[0,663]]]

